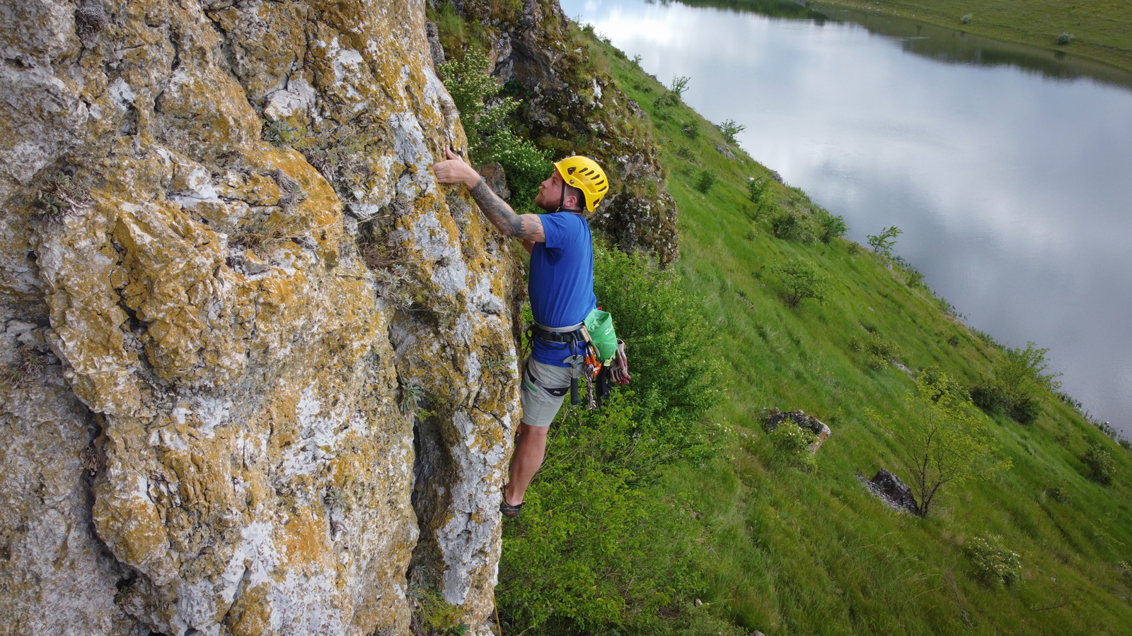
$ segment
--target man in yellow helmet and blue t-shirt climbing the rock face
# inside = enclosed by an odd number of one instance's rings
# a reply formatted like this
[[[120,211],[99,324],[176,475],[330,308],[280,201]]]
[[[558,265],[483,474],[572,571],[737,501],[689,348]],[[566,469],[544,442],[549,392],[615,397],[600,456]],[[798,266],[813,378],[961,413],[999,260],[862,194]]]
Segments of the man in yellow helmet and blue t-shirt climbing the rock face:
[[[576,375],[572,376],[571,349],[582,321],[597,306],[593,239],[583,214],[598,207],[609,184],[593,160],[568,157],[555,164],[534,197],[534,205],[549,214],[515,214],[472,166],[449,148],[445,154],[448,158],[432,166],[437,181],[463,183],[488,221],[505,235],[523,241],[531,255],[528,292],[535,337],[523,363],[523,416],[511,481],[499,504],[504,516],[515,518],[526,488],[542,465],[550,421],[561,407],[572,377],[576,380]]]

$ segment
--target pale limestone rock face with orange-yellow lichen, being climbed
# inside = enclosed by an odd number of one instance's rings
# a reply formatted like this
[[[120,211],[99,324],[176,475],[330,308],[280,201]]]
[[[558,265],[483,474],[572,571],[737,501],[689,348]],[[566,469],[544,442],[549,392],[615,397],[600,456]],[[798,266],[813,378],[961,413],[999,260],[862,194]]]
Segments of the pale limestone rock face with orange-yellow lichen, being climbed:
[[[521,290],[422,1],[0,24],[0,634],[480,626]]]

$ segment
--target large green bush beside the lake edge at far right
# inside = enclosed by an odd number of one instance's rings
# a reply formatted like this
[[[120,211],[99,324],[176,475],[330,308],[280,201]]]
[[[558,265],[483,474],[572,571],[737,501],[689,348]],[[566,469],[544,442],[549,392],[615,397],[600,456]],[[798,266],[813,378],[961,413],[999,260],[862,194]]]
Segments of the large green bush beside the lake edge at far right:
[[[1026,349],[1007,349],[994,367],[994,375],[971,387],[971,399],[987,413],[1005,413],[1021,424],[1034,423],[1041,414],[1041,392],[1054,392],[1061,373],[1046,373],[1048,349],[1032,342]]]

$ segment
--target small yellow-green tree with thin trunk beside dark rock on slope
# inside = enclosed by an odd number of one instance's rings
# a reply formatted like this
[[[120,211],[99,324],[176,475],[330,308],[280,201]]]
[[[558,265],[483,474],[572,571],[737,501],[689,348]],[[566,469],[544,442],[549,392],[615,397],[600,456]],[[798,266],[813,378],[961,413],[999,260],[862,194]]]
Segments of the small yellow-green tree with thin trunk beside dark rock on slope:
[[[897,440],[917,513],[926,517],[944,485],[988,479],[1009,470],[1011,462],[998,457],[997,446],[970,415],[971,403],[944,372],[920,373],[916,389],[908,392],[911,419],[907,424],[873,416]]]

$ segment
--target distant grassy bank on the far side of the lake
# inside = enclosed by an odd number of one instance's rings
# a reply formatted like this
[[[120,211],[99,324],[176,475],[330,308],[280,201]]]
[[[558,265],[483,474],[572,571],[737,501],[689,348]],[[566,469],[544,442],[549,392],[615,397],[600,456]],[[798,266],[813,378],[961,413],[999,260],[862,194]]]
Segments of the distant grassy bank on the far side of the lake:
[[[1006,42],[1065,51],[1132,70],[1132,2],[1127,0],[821,0],[912,17]],[[959,18],[970,14],[971,20]],[[1073,41],[1058,46],[1062,33]]]

